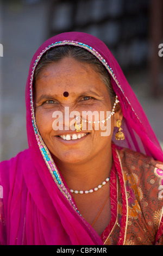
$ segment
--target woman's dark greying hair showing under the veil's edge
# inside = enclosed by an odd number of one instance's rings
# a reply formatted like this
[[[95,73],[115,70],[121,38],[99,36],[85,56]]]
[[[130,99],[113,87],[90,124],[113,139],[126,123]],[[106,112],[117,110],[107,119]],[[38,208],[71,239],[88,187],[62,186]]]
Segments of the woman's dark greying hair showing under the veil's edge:
[[[84,48],[80,48],[78,46],[65,45],[65,46],[57,46],[49,49],[46,53],[44,53],[40,59],[40,62],[37,64],[35,72],[34,72],[34,95],[35,95],[35,81],[37,76],[39,76],[41,70],[45,68],[48,64],[52,64],[54,62],[59,62],[59,60],[71,57],[78,62],[83,62],[92,65],[92,68],[98,72],[105,86],[108,88],[108,92],[110,95],[110,100],[113,105],[115,101],[115,92],[112,89],[110,75],[109,72],[105,69],[105,66],[89,51]]]

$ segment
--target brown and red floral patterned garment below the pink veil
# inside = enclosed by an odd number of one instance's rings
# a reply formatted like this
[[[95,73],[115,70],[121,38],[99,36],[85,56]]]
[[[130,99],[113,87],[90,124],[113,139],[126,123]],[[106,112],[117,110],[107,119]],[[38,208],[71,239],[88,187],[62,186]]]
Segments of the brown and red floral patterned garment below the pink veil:
[[[163,245],[163,164],[114,145],[112,153],[117,171],[117,217],[112,230],[107,233],[106,228],[101,239],[105,245]]]

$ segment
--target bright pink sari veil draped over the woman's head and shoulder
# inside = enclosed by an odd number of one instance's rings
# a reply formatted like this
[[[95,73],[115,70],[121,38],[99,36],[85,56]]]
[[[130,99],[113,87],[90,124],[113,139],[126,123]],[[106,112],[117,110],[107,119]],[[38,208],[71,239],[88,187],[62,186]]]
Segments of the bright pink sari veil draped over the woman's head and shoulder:
[[[101,237],[80,216],[35,123],[32,83],[36,65],[49,48],[67,44],[90,51],[111,76],[112,87],[121,103],[126,137],[123,143],[114,138],[113,142],[163,162],[161,147],[146,115],[104,43],[92,35],[78,32],[48,39],[35,53],[27,79],[29,149],[0,165],[0,197],[3,197],[0,204],[3,201],[4,206],[0,216],[0,243],[3,245],[103,245]]]

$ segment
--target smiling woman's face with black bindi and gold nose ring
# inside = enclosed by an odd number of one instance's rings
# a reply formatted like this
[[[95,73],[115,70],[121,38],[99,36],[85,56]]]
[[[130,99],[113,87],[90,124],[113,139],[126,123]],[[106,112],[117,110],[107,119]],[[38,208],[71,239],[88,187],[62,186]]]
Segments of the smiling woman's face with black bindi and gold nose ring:
[[[98,121],[107,117],[106,111],[111,111],[108,90],[91,65],[72,58],[49,64],[41,70],[35,88],[36,124],[54,159],[65,163],[82,163],[108,152],[114,129],[113,117],[110,135],[101,136],[104,131],[100,126],[95,129],[95,124],[76,132],[74,122],[72,124],[76,115],[71,118],[67,114],[65,116],[65,109],[69,114],[78,111],[81,117],[83,111],[97,111],[95,119],[92,120]],[[63,95],[64,92],[68,92],[67,97]],[[100,115],[100,111],[103,111],[105,116]],[[60,124],[63,124],[64,130],[53,129],[57,113],[62,114]],[[85,115],[83,119],[88,120],[88,117]],[[57,125],[59,126],[59,123]]]

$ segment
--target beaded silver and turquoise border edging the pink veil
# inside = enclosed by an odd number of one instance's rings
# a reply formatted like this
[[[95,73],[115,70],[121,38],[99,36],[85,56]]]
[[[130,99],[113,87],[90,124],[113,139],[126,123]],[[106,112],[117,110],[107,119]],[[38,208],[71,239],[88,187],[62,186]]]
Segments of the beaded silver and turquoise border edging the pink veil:
[[[82,42],[78,42],[78,41],[71,41],[71,40],[64,40],[64,41],[58,41],[55,42],[49,46],[47,46],[44,50],[42,50],[42,52],[40,53],[39,56],[37,56],[34,66],[33,66],[33,70],[32,70],[32,75],[30,76],[30,110],[31,110],[31,114],[32,114],[32,125],[34,127],[34,132],[35,132],[35,136],[36,136],[36,140],[37,140],[37,144],[39,145],[39,149],[41,151],[41,154],[43,156],[43,159],[46,162],[46,165],[49,169],[49,172],[51,173],[53,180],[55,181],[55,183],[57,184],[58,188],[60,189],[60,191],[64,194],[64,196],[68,199],[68,201],[71,203],[71,205],[73,206],[74,210],[76,210],[78,213],[78,209],[76,207],[76,205],[74,204],[73,200],[72,200],[72,196],[71,194],[67,191],[67,188],[65,187],[64,183],[61,180],[60,174],[58,172],[57,167],[55,166],[55,163],[51,157],[51,154],[49,153],[48,148],[46,147],[45,143],[42,140],[42,137],[39,133],[39,130],[37,129],[36,126],[36,121],[35,121],[35,114],[34,114],[34,103],[33,103],[33,77],[34,77],[34,71],[35,68],[37,66],[37,63],[39,62],[39,60],[41,59],[42,55],[48,51],[50,48],[55,47],[55,46],[62,46],[62,45],[74,45],[74,46],[78,46],[78,47],[82,47],[85,48],[85,50],[91,52],[93,55],[96,56],[97,59],[99,59],[102,64],[105,66],[105,68],[109,71],[109,74],[112,76],[112,78],[115,80],[117,86],[121,89],[121,92],[124,95],[124,92],[120,86],[120,84],[118,83],[116,76],[113,72],[113,70],[110,68],[110,66],[108,65],[108,63],[106,63],[106,60],[101,56],[101,54],[99,54],[95,48],[92,48],[89,45],[83,44]],[[124,95],[125,96],[125,95]],[[126,97],[126,96],[125,96]],[[133,107],[131,106],[128,98],[126,97],[131,109],[133,110],[133,112],[135,113]],[[135,113],[136,115],[136,113]],[[136,118],[140,121],[139,117]],[[140,121],[141,123],[141,121]],[[79,213],[80,214],[80,213]]]

